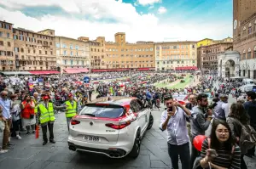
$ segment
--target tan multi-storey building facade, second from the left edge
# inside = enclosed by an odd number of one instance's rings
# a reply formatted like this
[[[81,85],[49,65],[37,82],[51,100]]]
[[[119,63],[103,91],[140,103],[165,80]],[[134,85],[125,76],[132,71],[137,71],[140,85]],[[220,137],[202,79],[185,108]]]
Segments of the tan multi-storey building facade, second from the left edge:
[[[13,32],[16,70],[56,70],[54,30],[14,28]]]

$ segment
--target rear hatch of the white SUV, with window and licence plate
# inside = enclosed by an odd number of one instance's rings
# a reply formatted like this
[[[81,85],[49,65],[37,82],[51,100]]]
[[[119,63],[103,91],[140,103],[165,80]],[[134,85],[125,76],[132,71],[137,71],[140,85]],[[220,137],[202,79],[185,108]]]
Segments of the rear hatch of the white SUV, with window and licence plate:
[[[116,144],[119,138],[124,107],[116,104],[86,104],[71,122],[70,134],[79,141],[96,144]]]

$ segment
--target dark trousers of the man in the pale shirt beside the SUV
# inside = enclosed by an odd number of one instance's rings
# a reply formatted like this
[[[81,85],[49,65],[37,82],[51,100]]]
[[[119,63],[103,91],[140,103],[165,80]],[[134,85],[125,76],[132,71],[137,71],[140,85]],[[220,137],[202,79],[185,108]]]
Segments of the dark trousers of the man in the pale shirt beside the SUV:
[[[178,156],[182,163],[182,169],[190,168],[189,143],[183,145],[172,145],[168,143],[168,154],[172,161],[172,169],[178,169]]]

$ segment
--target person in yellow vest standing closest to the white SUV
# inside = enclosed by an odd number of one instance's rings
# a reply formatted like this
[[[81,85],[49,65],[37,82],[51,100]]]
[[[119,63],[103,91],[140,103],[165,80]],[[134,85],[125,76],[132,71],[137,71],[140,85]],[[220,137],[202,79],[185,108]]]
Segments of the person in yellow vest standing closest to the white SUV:
[[[74,115],[78,114],[78,104],[73,100],[72,93],[68,94],[66,104],[67,129],[69,131],[69,123]]]

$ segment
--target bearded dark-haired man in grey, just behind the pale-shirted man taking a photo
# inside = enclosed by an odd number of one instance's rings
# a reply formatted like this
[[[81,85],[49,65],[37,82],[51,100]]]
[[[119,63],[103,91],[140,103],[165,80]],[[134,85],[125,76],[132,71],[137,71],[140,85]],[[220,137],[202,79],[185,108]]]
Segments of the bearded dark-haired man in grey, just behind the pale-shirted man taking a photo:
[[[193,118],[190,121],[191,125],[191,136],[193,139],[198,135],[205,135],[207,128],[210,126],[212,120],[212,110],[208,109],[208,99],[207,94],[201,93],[196,97],[197,106],[193,108]],[[192,145],[191,159],[190,159],[190,168],[194,166],[195,158],[200,154],[200,152],[195,149],[195,146]]]

